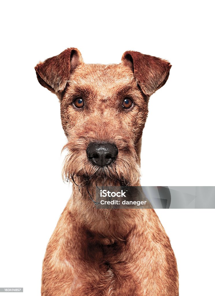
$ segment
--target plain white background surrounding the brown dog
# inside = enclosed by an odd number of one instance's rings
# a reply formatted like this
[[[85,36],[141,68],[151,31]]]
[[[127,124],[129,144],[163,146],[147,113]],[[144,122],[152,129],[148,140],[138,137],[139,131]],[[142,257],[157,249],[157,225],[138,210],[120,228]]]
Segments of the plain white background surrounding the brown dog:
[[[214,186],[213,18],[212,1],[1,4],[0,287],[40,295],[46,244],[71,194],[61,179],[59,102],[34,66],[67,47],[86,63],[119,63],[126,50],[168,59],[169,80],[149,103],[142,184]],[[214,295],[214,210],[157,213],[180,295]]]

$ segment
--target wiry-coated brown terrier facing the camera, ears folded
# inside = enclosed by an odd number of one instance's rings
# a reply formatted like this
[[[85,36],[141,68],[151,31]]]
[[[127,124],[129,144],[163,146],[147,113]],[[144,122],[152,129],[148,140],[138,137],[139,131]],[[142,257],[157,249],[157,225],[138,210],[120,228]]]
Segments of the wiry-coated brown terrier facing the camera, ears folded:
[[[119,65],[88,65],[76,48],[35,67],[60,100],[64,175],[77,185],[47,246],[42,296],[178,295],[176,260],[155,211],[102,210],[92,201],[96,185],[140,186],[148,99],[170,68],[133,51]]]

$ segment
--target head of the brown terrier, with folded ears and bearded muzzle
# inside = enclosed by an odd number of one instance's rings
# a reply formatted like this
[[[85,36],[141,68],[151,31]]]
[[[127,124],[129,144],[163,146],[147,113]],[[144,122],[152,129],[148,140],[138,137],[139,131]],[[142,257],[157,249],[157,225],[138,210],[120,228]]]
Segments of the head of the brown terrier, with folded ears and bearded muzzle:
[[[118,65],[85,64],[75,48],[35,67],[39,83],[60,99],[68,180],[79,186],[138,184],[148,99],[166,83],[170,68],[166,60],[133,51]]]

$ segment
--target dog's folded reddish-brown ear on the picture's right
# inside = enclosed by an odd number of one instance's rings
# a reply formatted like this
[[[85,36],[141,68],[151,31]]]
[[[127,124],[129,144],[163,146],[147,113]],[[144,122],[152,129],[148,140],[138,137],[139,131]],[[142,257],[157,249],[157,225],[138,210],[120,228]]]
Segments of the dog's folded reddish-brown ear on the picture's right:
[[[151,96],[166,83],[172,67],[164,59],[133,51],[123,54],[122,64],[132,69],[140,88],[147,96]]]

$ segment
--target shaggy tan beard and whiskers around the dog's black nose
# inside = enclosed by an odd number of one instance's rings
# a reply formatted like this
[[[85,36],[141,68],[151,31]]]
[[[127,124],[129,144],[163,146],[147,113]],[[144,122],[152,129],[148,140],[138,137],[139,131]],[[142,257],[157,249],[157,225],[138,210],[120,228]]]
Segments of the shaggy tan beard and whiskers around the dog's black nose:
[[[65,157],[62,176],[79,187],[91,186],[135,186],[140,177],[140,167],[135,151],[120,151],[117,159],[104,167],[93,165],[86,152],[71,144],[65,145],[69,153]]]

